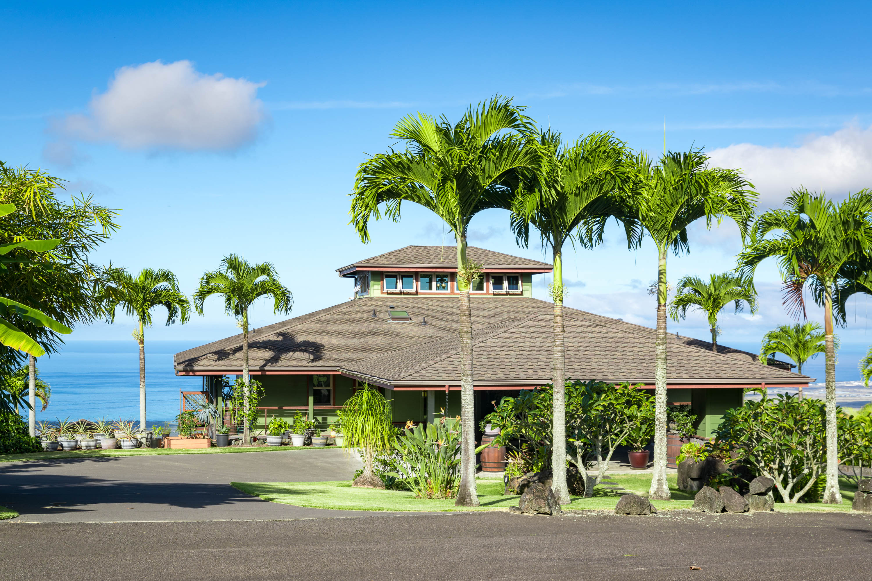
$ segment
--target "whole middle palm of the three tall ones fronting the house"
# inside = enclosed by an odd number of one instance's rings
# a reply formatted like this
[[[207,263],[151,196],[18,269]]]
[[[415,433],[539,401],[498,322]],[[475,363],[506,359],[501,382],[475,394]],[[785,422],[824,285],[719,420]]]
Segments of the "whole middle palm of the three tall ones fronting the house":
[[[602,227],[610,216],[622,217],[623,200],[617,196],[630,181],[632,166],[628,148],[611,133],[591,133],[575,144],[562,145],[559,133],[548,131],[539,139],[548,154],[548,171],[528,188],[519,188],[512,212],[512,229],[518,243],[529,242],[529,226],[539,231],[542,247],[554,256],[554,445],[551,487],[561,504],[568,504],[566,482],[566,372],[563,330],[562,252],[573,233],[584,247],[602,242]],[[587,226],[587,227],[582,227]],[[593,226],[593,227],[591,227]],[[582,230],[585,233],[582,233]],[[628,240],[631,239],[628,226]]]

